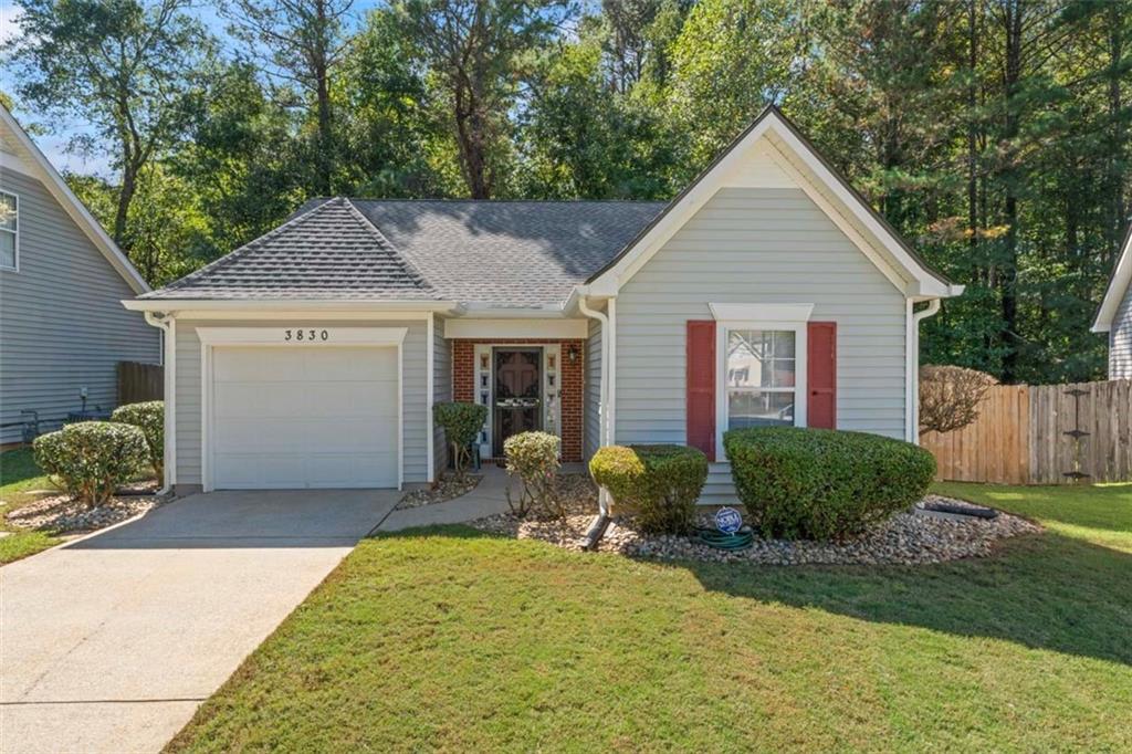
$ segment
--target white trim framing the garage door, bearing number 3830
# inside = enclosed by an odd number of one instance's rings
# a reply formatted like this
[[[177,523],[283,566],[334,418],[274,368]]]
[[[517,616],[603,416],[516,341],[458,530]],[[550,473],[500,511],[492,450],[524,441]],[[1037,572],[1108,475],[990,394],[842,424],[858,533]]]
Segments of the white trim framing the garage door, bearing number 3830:
[[[299,324],[302,324],[301,320]],[[299,328],[299,324],[294,328]],[[309,326],[309,325],[308,325]],[[205,492],[213,481],[213,349],[220,346],[280,346],[310,349],[375,346],[397,349],[397,489],[405,485],[405,392],[404,341],[408,327],[326,327],[332,337],[323,341],[284,341],[285,327],[198,327],[200,341],[200,481]]]

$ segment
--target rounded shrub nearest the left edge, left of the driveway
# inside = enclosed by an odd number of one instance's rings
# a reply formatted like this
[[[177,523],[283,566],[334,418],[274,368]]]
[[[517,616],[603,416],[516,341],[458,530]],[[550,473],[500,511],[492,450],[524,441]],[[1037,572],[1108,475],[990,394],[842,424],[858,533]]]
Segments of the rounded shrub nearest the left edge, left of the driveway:
[[[98,506],[149,459],[145,435],[117,421],[84,421],[35,438],[35,462],[60,487]]]

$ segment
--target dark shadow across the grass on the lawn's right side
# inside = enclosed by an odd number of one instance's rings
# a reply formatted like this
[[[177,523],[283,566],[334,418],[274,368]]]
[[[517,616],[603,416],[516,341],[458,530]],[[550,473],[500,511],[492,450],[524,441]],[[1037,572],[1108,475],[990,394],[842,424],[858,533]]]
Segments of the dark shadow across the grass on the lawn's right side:
[[[1048,532],[934,566],[672,567],[732,597],[1132,665],[1132,555]]]

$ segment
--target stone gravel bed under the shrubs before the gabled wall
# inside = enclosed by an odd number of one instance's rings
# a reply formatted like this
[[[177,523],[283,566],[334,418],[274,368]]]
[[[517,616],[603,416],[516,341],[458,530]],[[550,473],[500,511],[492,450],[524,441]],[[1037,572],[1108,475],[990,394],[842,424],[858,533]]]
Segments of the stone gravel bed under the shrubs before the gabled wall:
[[[584,475],[576,474],[589,481]],[[597,491],[592,483],[589,496],[576,482],[574,511],[561,521],[520,521],[511,514],[473,521],[472,526],[518,539],[539,539],[571,550],[582,549],[582,538],[597,513]],[[928,496],[925,500],[946,502],[963,507],[962,500]],[[714,509],[700,514],[700,525],[713,526]],[[619,552],[629,557],[663,560],[702,560],[709,563],[757,563],[764,565],[921,565],[944,563],[960,558],[986,557],[995,543],[1007,537],[1032,534],[1041,528],[1024,519],[1000,512],[992,520],[957,521],[932,516],[917,505],[912,511],[899,513],[871,533],[848,542],[814,542],[763,539],[736,552],[707,547],[689,537],[643,534],[633,526],[633,520],[615,516],[598,550]]]

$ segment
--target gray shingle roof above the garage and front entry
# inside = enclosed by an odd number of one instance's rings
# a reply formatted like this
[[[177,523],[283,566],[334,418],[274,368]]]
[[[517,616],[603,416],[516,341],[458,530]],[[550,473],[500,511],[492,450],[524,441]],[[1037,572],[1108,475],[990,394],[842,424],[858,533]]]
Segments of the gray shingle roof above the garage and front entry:
[[[288,223],[144,298],[557,305],[664,206],[312,199]]]

